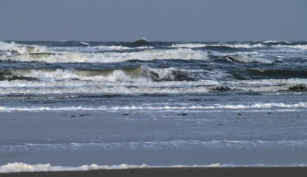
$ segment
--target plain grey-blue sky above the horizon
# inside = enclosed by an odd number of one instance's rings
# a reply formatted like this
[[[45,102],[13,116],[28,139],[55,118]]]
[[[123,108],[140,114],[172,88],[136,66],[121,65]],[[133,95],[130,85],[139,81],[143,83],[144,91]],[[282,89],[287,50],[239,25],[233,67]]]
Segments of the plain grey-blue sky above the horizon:
[[[305,0],[0,0],[0,41],[307,40]]]

